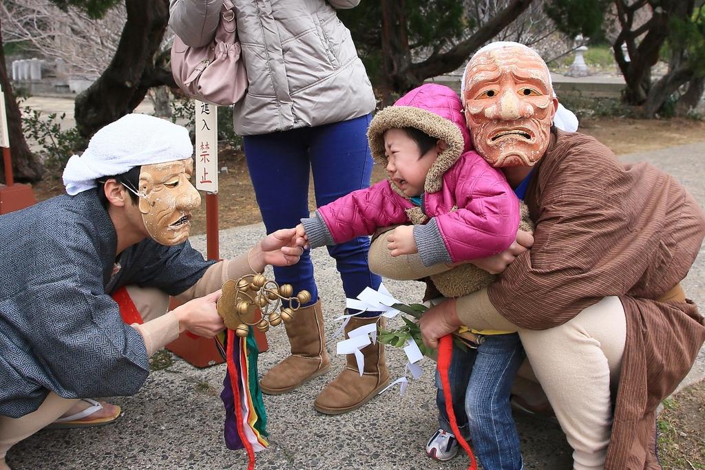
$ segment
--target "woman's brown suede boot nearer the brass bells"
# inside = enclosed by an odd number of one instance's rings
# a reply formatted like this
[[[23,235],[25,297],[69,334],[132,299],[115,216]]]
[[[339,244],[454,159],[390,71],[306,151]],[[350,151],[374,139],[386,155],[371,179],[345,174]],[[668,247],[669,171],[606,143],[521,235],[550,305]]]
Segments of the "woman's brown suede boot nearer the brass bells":
[[[293,321],[284,323],[291,345],[291,355],[269,369],[259,386],[267,395],[281,395],[294,390],[331,369],[326,352],[321,301],[298,309]]]

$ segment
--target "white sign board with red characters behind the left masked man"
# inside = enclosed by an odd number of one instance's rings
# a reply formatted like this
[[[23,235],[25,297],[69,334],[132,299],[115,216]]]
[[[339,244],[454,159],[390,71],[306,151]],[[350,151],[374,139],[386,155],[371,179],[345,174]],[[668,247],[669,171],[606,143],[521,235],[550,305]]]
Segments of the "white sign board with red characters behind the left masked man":
[[[196,189],[218,192],[218,106],[195,100]]]

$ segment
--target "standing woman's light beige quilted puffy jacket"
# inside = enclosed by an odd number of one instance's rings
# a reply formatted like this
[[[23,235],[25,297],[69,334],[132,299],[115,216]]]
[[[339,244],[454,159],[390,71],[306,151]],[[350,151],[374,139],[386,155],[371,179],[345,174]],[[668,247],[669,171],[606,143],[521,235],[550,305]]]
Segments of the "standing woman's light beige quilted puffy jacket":
[[[233,0],[250,82],[235,132],[266,134],[358,118],[374,92],[336,8],[360,0]],[[169,25],[190,46],[215,35],[223,0],[171,0]]]

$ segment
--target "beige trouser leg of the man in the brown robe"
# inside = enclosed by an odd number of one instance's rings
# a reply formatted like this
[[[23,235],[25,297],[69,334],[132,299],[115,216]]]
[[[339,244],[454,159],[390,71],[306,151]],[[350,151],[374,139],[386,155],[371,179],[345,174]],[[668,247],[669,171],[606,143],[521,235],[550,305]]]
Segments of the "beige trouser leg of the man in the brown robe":
[[[573,468],[602,469],[627,338],[622,302],[606,297],[568,323],[519,336],[573,448]]]

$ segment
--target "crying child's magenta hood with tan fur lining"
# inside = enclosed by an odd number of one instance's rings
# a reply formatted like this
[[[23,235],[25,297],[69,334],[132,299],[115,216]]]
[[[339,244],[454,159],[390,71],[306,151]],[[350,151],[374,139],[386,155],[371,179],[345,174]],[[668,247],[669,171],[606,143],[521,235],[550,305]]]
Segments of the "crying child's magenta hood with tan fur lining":
[[[376,113],[372,119],[367,130],[369,147],[375,161],[384,166],[387,164],[384,132],[393,128],[417,128],[448,144],[426,177],[424,191],[429,193],[441,190],[443,174],[471,147],[470,131],[467,130],[465,115],[462,113],[460,97],[453,89],[436,83],[412,89],[393,106],[387,106]],[[406,197],[396,185],[391,186],[400,196]]]

